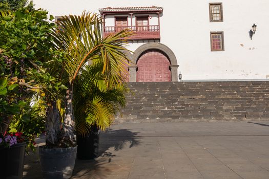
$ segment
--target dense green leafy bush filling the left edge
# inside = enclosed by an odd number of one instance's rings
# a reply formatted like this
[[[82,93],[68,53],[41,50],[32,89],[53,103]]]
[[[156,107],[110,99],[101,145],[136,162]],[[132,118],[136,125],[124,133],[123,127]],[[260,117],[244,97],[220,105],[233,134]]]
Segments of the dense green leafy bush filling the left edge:
[[[60,94],[66,88],[57,75],[62,53],[55,50],[49,36],[55,24],[46,21],[47,12],[22,8],[15,12],[0,12],[0,133],[9,130],[40,133],[32,128],[38,107],[31,101],[45,98],[46,93]],[[58,69],[59,68],[59,69]],[[47,104],[46,104],[47,105]],[[38,114],[39,115],[39,114]],[[38,119],[41,125],[43,119]],[[36,122],[37,122],[36,121]],[[39,125],[38,124],[38,125]],[[30,129],[31,128],[31,129]]]

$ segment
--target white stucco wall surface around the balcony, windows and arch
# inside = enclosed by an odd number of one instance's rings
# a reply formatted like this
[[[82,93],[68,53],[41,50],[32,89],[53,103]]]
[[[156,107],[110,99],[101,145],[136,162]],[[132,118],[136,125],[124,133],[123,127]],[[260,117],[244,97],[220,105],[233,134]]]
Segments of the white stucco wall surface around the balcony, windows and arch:
[[[221,23],[210,23],[209,3],[214,2],[223,6]],[[160,6],[160,42],[176,55],[183,80],[269,79],[268,0],[34,0],[34,4],[54,16],[105,7]],[[257,32],[251,40],[254,23]],[[225,51],[211,52],[210,31],[224,32]],[[130,49],[141,44],[133,42]]]

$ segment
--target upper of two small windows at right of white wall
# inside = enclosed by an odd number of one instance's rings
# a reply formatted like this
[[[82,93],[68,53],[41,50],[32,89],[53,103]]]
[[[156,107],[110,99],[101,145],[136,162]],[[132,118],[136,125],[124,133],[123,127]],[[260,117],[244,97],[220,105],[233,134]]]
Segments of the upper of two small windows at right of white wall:
[[[210,3],[209,15],[211,22],[223,22],[222,3]]]

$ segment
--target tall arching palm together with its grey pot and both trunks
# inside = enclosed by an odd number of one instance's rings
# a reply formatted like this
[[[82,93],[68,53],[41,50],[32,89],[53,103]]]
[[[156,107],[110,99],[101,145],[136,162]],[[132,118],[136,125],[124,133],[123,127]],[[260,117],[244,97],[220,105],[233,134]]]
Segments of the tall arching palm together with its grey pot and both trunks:
[[[63,16],[58,28],[50,34],[55,49],[63,52],[63,60],[48,68],[47,73],[66,82],[63,94],[47,93],[46,145],[39,148],[40,163],[45,178],[70,178],[76,156],[75,119],[73,108],[74,85],[89,61],[101,59],[102,71],[108,84],[120,84],[119,74],[128,58],[123,53],[126,38],[131,32],[122,31],[102,38],[101,18],[94,13],[83,12],[81,16]],[[55,70],[55,66],[60,70]],[[54,71],[53,71],[54,69]],[[64,108],[64,112],[63,109]],[[64,114],[61,120],[61,114]],[[61,122],[62,121],[62,122]]]

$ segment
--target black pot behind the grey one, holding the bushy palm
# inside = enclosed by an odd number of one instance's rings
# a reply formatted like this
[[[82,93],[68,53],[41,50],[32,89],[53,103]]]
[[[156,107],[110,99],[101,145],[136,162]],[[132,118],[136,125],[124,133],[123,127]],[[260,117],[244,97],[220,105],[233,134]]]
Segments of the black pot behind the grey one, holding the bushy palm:
[[[77,136],[77,159],[90,160],[98,156],[99,129],[91,128],[91,133],[86,137]]]

